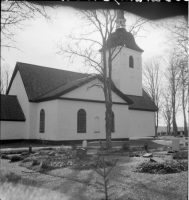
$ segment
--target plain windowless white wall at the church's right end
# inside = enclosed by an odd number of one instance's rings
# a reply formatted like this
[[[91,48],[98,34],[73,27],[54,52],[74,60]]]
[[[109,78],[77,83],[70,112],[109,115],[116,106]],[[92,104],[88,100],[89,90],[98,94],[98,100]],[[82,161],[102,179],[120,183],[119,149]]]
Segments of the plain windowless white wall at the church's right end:
[[[130,137],[155,136],[154,112],[129,110]]]

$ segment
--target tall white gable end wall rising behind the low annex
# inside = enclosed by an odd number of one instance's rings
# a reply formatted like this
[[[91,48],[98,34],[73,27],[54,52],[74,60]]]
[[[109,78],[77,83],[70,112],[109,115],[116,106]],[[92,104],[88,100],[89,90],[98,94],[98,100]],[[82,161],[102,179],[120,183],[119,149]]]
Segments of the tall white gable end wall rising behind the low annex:
[[[9,95],[16,95],[18,98],[18,101],[22,107],[22,110],[23,110],[25,118],[26,118],[26,121],[24,123],[20,123],[20,125],[18,125],[18,127],[23,126],[23,128],[22,128],[24,130],[24,131],[22,131],[22,133],[24,133],[22,136],[23,139],[29,139],[30,138],[30,136],[29,136],[29,122],[30,122],[29,102],[28,102],[26,90],[24,88],[24,84],[22,82],[19,71],[17,71],[17,74],[12,82],[12,85],[11,85],[11,88],[9,91]],[[7,122],[7,123],[10,123],[10,127],[13,127],[11,122]],[[18,123],[18,122],[15,122],[15,123]],[[10,131],[10,129],[9,129],[9,131]],[[15,130],[13,128],[12,133],[10,133],[10,134],[13,134],[14,131]]]

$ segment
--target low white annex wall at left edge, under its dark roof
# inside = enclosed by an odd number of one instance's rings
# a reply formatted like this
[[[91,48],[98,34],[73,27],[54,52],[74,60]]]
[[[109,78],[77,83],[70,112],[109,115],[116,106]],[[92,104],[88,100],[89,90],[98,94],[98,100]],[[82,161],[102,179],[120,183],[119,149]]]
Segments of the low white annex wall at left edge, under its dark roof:
[[[19,121],[1,121],[0,139],[25,139],[25,123]]]

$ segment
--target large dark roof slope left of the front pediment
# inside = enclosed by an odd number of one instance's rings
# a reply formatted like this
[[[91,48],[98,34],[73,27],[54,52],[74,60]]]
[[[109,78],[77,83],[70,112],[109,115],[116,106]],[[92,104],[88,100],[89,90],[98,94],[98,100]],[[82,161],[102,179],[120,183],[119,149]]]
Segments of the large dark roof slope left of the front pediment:
[[[66,83],[89,76],[88,74],[17,62],[7,94],[18,70],[30,101],[33,101]]]

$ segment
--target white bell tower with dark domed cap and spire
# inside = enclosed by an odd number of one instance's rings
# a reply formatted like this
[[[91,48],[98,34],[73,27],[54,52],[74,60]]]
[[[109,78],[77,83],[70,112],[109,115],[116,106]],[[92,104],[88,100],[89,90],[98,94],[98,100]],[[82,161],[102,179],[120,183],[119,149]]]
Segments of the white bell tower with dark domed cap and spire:
[[[115,49],[112,61],[112,81],[124,94],[142,96],[142,52],[133,35],[125,29],[123,11],[117,11],[116,30],[107,40],[108,48]]]

